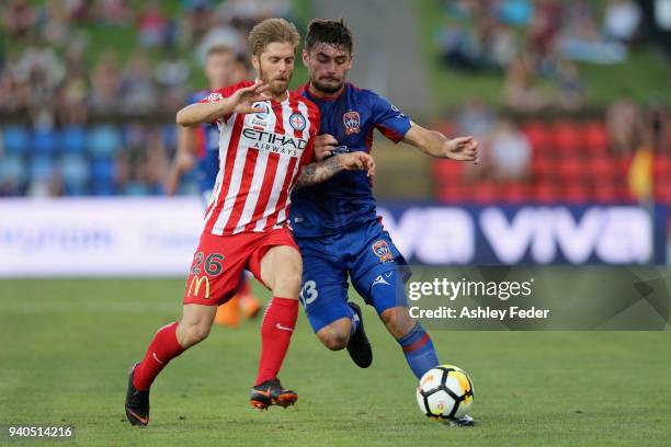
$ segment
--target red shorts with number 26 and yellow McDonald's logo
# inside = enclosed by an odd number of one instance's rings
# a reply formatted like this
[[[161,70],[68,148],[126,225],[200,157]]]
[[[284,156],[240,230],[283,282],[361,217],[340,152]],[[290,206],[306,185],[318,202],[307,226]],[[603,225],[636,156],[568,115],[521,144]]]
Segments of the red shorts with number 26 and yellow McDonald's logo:
[[[277,245],[296,249],[288,228],[270,232],[216,236],[203,232],[186,280],[185,305],[219,306],[236,294],[242,270],[261,283],[261,260]]]

